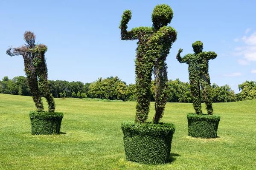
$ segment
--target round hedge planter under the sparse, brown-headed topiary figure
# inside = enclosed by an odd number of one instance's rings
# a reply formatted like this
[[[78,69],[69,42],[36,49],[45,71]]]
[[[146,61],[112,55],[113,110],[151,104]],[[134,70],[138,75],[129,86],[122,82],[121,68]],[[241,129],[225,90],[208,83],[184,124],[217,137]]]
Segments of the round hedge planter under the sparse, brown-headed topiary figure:
[[[32,135],[60,133],[63,113],[31,111],[29,117],[31,121]]]

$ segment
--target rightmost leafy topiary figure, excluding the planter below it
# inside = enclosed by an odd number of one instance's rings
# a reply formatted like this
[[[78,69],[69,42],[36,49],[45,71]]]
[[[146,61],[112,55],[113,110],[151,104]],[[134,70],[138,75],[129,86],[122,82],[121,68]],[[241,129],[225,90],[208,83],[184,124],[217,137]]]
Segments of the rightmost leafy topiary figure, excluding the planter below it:
[[[180,53],[183,49],[179,49],[176,58],[180,63],[186,62],[189,65],[190,91],[196,114],[203,114],[201,109],[201,88],[207,113],[208,115],[212,115],[212,95],[210,77],[208,73],[208,62],[209,59],[215,59],[217,54],[213,51],[202,52],[203,43],[201,41],[194,42],[192,47],[195,52],[194,54],[187,54],[184,57],[180,57]]]

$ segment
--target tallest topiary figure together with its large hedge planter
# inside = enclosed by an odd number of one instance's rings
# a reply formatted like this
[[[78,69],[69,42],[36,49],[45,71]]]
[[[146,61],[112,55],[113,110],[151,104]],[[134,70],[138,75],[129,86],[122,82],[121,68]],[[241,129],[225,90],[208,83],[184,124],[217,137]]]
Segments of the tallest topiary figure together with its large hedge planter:
[[[139,40],[135,59],[137,105],[134,122],[123,122],[126,158],[142,163],[165,163],[169,159],[173,124],[158,124],[163,116],[167,98],[166,57],[177,38],[174,28],[167,26],[172,20],[170,6],[157,5],[152,13],[152,27],[138,27],[127,31],[131,11],[125,10],[119,28],[121,40]],[[147,123],[150,106],[151,76],[156,79],[156,102],[153,124]],[[145,131],[142,131],[145,129]],[[166,131],[164,130],[166,129]],[[164,136],[164,137],[163,137]],[[161,143],[161,144],[160,144]],[[159,146],[159,147],[156,147]],[[160,147],[161,146],[161,147]],[[164,151],[163,151],[164,150]]]

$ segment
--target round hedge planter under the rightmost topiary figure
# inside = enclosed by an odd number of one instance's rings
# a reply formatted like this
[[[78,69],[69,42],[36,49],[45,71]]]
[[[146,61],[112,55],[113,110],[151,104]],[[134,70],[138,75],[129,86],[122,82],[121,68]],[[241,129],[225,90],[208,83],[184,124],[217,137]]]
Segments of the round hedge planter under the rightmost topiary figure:
[[[216,138],[218,131],[218,123],[221,116],[218,114],[195,114],[188,113],[189,136],[195,138]]]

